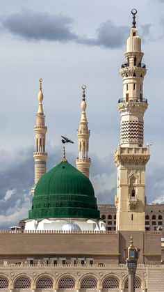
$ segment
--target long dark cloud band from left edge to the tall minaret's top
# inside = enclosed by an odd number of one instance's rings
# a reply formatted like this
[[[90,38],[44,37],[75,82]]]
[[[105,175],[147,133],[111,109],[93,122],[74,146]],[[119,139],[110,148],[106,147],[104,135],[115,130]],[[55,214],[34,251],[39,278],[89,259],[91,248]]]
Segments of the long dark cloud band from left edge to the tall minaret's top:
[[[21,13],[0,17],[1,29],[26,40],[49,40],[100,47],[121,47],[128,36],[128,26],[115,26],[112,22],[102,23],[95,38],[78,36],[72,31],[72,18],[66,15],[22,10]]]

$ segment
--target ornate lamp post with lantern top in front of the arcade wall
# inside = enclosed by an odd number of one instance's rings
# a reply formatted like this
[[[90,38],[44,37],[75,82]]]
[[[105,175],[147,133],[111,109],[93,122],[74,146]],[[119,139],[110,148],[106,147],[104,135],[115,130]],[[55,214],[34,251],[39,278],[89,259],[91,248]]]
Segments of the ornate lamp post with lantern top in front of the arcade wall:
[[[131,243],[127,249],[126,267],[129,274],[129,292],[135,292],[135,274],[138,261],[138,248],[133,246],[133,238],[131,236]]]

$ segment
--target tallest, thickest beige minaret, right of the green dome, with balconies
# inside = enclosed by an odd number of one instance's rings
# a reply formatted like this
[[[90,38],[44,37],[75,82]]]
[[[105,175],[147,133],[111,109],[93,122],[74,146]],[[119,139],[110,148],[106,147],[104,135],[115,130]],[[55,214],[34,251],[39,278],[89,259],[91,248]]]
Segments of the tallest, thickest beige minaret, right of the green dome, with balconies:
[[[123,98],[117,109],[121,114],[120,144],[115,151],[117,165],[117,230],[145,231],[145,166],[149,160],[149,146],[143,146],[143,116],[147,99],[143,98],[143,79],[146,66],[142,63],[141,39],[136,28],[137,10],[127,40],[126,63],[120,75],[123,79]]]

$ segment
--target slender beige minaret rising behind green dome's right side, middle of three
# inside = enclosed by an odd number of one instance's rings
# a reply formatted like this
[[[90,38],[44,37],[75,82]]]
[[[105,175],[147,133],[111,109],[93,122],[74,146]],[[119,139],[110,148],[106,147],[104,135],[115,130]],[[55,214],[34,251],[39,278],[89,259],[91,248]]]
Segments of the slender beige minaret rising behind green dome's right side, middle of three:
[[[83,100],[81,102],[81,121],[79,124],[79,130],[77,131],[78,141],[79,141],[79,157],[76,159],[76,167],[81,171],[85,176],[90,176],[90,157],[88,157],[89,151],[89,139],[90,139],[90,130],[88,130],[88,121],[86,117],[86,107],[85,102],[85,89],[86,86],[82,86],[83,89]]]

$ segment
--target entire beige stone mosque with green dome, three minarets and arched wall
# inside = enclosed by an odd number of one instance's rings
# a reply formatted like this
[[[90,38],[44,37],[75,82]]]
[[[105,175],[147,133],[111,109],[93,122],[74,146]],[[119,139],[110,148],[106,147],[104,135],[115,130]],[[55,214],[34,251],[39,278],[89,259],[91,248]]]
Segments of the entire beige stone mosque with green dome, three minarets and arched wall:
[[[47,127],[40,80],[34,129],[33,201],[28,218],[20,222],[21,227],[25,224],[24,228],[0,232],[0,292],[127,292],[131,277],[125,263],[130,247],[138,253],[136,291],[164,291],[163,246],[161,248],[161,232],[158,231],[158,226],[162,226],[163,217],[159,216],[163,216],[163,210],[158,208],[156,214],[151,215],[151,206],[146,207],[149,146],[144,146],[143,121],[148,103],[143,97],[146,70],[142,64],[135,15],[133,12],[126,63],[120,70],[123,98],[118,102],[120,145],[114,154],[117,166],[115,205],[97,208],[88,178],[90,131],[85,114],[85,92],[78,131],[76,166],[79,170],[67,162],[64,151],[62,161],[46,172]],[[64,143],[69,141],[65,139]],[[149,230],[151,226],[156,229]],[[137,260],[137,256],[132,253],[131,259]]]

